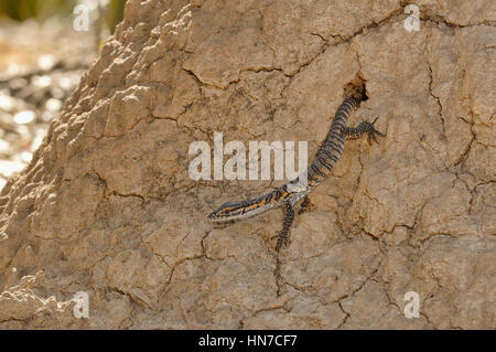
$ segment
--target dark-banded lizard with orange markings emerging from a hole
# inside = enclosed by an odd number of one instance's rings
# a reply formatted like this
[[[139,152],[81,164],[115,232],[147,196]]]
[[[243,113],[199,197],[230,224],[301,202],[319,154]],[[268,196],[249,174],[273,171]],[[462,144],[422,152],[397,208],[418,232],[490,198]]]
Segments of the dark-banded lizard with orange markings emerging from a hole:
[[[360,99],[355,98],[353,95],[344,99],[336,110],[327,137],[320,146],[314,161],[294,180],[256,199],[224,203],[212,212],[208,218],[216,223],[228,222],[251,217],[270,209],[282,207],[284,214],[282,230],[272,237],[278,238],[276,250],[279,252],[282,244],[287,245],[288,243],[294,220],[294,204],[302,199],[308,201],[309,193],[331,173],[334,164],[343,153],[345,139],[356,139],[367,134],[368,142],[370,143],[371,138],[378,142],[376,134],[385,136],[374,126],[378,117],[373,122],[362,121],[357,127],[347,126],[349,113],[359,103]]]

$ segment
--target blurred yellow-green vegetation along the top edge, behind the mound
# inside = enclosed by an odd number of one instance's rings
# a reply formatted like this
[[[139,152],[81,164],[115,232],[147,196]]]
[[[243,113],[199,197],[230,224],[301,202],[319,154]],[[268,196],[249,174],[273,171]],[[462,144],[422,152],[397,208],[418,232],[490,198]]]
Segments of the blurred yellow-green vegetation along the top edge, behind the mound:
[[[95,0],[97,1],[97,0]],[[114,33],[116,25],[122,20],[126,0],[110,0],[98,19],[99,23],[106,23],[108,30]],[[67,19],[72,15],[77,0],[0,0],[0,18],[7,17],[15,21],[36,19],[45,21],[48,18]]]

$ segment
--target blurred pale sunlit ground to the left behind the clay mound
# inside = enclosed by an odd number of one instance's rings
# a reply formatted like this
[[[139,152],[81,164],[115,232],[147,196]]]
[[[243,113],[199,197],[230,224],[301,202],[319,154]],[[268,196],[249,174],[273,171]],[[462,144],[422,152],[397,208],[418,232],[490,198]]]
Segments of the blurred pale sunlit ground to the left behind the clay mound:
[[[0,21],[0,189],[21,171],[96,57],[71,22]]]

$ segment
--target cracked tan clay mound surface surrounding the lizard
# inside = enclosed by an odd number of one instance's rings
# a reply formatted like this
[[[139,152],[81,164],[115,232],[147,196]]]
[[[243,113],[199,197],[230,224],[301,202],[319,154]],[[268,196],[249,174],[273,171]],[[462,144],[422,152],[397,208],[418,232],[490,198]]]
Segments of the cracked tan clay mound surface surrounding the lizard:
[[[396,0],[128,1],[0,194],[0,329],[495,329],[495,2],[410,2],[419,31]],[[313,158],[356,77],[351,125],[387,137],[346,142],[279,257],[280,211],[207,221],[280,181],[193,181],[191,142]]]

